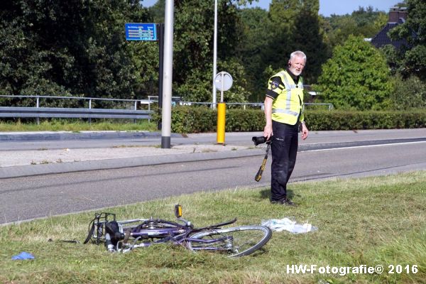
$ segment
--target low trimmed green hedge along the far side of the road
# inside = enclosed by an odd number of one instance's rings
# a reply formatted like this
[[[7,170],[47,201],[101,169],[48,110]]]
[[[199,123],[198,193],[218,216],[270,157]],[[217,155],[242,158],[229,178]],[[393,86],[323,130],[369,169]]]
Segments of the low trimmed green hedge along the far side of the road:
[[[352,129],[413,129],[426,127],[426,109],[411,111],[305,111],[311,131]],[[263,131],[260,109],[226,109],[226,132]],[[173,107],[174,133],[217,131],[217,110],[207,107]]]

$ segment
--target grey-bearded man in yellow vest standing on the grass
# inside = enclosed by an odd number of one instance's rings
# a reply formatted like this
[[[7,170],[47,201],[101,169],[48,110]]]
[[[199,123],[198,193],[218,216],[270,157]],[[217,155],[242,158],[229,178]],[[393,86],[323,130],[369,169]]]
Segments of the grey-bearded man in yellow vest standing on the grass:
[[[288,67],[268,81],[265,98],[266,126],[263,136],[271,138],[271,203],[295,206],[287,196],[287,182],[295,168],[298,132],[302,124],[302,139],[307,138],[303,116],[303,80],[300,74],[306,55],[295,51]]]

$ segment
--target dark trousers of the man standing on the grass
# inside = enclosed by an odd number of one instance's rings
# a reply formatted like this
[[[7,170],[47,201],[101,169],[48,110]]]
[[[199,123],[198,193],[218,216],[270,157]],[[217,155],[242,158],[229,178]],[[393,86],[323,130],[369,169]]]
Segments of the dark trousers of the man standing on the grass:
[[[287,198],[287,182],[296,163],[298,128],[298,124],[272,121],[271,201]]]

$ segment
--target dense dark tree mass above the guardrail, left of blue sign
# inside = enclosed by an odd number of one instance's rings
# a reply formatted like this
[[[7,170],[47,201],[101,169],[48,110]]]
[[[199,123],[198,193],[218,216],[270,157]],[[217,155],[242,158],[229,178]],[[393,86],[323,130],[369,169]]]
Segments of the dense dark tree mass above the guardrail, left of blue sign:
[[[0,86],[9,94],[136,96],[143,80],[124,23],[148,19],[139,1],[6,0],[0,8]]]

